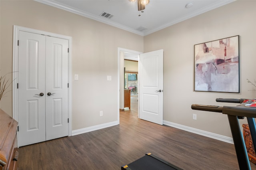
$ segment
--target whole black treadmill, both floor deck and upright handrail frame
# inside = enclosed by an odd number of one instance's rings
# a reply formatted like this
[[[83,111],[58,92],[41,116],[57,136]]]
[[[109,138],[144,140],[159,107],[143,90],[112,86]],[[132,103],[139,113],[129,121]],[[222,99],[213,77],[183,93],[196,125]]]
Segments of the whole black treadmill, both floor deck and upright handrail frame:
[[[217,99],[216,99],[217,101]],[[246,151],[245,142],[238,119],[247,117],[248,125],[252,135],[254,148],[256,148],[256,126],[254,117],[256,117],[256,100],[247,99],[218,99],[218,102],[240,103],[238,106],[213,106],[213,105],[191,105],[194,110],[219,112],[228,115],[230,129],[234,140],[236,156],[238,159],[239,168],[241,170],[250,170],[250,162]],[[121,166],[121,170],[182,170],[181,168],[159,158],[158,156],[147,153],[142,158],[135,160],[130,164]]]

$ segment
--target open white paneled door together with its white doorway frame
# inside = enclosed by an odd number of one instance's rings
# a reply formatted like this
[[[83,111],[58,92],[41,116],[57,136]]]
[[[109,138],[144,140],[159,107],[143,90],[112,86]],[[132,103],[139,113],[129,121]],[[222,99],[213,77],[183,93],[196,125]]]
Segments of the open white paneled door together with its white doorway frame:
[[[124,49],[118,48],[118,109],[124,108]],[[130,52],[138,58],[138,118],[163,125],[164,50],[147,53]],[[120,112],[118,111],[118,123]]]

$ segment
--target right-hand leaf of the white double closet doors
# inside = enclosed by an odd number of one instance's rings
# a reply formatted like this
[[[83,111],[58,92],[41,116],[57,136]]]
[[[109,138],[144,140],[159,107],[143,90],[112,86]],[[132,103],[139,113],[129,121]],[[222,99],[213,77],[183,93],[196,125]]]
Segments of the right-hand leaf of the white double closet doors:
[[[68,40],[46,37],[46,78],[46,140],[51,140],[68,136]]]

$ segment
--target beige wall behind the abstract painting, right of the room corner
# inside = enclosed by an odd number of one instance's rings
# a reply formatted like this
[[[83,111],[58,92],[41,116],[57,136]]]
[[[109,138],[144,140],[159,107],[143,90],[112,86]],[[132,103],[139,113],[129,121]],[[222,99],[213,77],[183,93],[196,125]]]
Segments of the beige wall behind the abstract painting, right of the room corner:
[[[226,115],[190,107],[234,105],[217,103],[216,98],[256,97],[256,91],[248,91],[253,87],[246,81],[256,79],[255,6],[256,1],[235,1],[144,37],[144,52],[164,49],[165,121],[231,137]],[[236,35],[240,35],[240,93],[193,91],[194,45]],[[193,113],[197,114],[196,121]]]

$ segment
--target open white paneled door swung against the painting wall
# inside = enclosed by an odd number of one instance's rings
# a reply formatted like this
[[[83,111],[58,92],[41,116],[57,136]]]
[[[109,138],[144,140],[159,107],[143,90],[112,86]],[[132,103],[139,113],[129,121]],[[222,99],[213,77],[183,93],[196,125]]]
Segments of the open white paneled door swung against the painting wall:
[[[164,51],[140,54],[140,119],[163,124]]]

